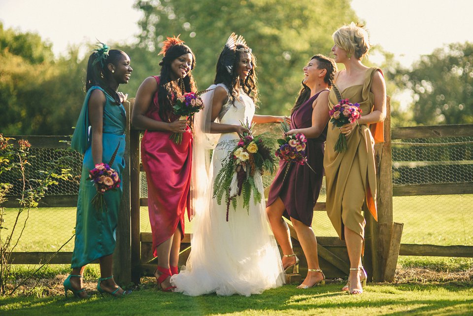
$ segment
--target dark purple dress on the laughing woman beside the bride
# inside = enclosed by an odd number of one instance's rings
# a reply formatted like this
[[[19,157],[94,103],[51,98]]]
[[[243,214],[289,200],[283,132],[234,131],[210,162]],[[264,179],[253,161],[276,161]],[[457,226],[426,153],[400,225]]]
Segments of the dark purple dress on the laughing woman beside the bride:
[[[326,90],[322,90],[326,91]],[[320,91],[320,92],[322,92]],[[309,98],[294,113],[291,114],[291,129],[302,129],[312,126],[312,104],[317,99],[317,93]],[[292,163],[289,166],[286,178],[287,161],[279,161],[279,170],[272,181],[267,205],[270,206],[277,197],[280,197],[286,211],[284,217],[290,217],[303,222],[307,226],[312,225],[314,206],[319,197],[324,176],[324,143],[327,137],[327,126],[318,138],[307,138],[307,163],[309,167]]]

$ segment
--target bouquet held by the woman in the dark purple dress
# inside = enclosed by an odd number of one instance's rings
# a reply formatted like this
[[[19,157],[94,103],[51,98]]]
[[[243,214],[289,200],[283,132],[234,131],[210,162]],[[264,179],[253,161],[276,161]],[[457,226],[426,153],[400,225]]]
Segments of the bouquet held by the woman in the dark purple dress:
[[[289,132],[289,124],[286,121],[281,122],[281,130],[284,134]],[[286,165],[286,172],[284,173],[283,181],[286,178],[286,175],[289,171],[289,166],[291,163],[296,163],[299,165],[306,164],[310,170],[313,171],[312,167],[307,163],[305,148],[307,139],[302,133],[296,135],[287,135],[283,139],[278,139],[277,143],[279,148],[276,150],[276,157],[283,159],[288,162]]]

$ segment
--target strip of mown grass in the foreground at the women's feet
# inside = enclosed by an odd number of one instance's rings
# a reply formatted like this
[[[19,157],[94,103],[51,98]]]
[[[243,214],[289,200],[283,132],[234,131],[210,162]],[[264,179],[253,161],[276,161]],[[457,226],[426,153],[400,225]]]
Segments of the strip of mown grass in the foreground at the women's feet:
[[[159,292],[148,285],[124,299],[97,295],[86,300],[64,296],[0,298],[0,315],[466,316],[473,311],[473,288],[468,286],[368,285],[365,293],[357,296],[341,293],[340,286],[298,290],[285,285],[250,297],[188,297]]]

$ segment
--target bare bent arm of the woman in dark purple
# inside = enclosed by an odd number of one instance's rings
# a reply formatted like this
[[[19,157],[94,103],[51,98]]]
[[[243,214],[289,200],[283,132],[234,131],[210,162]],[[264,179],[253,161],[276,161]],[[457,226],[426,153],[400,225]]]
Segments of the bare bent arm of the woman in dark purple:
[[[312,126],[294,129],[287,132],[288,135],[303,133],[306,138],[317,138],[322,134],[330,119],[329,115],[329,92],[323,91],[312,104]]]

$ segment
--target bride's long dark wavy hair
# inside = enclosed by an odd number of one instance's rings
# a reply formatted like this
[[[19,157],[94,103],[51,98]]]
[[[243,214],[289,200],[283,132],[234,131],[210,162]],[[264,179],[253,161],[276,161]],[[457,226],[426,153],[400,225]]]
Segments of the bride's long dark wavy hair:
[[[222,51],[217,61],[217,70],[215,74],[214,84],[223,83],[229,90],[230,99],[232,104],[234,104],[235,99],[239,97],[239,89],[243,89],[245,94],[247,94],[253,102],[256,104],[258,102],[258,86],[256,78],[256,58],[253,53],[249,51],[248,46],[243,44],[236,44],[235,50],[235,61],[232,67],[232,73],[229,73],[225,64],[222,62],[222,59],[225,58],[224,54],[228,52]],[[238,77],[238,66],[240,63],[240,56],[243,53],[248,53],[251,55],[252,68],[248,73],[248,76],[245,79]],[[239,80],[238,80],[239,79]]]

